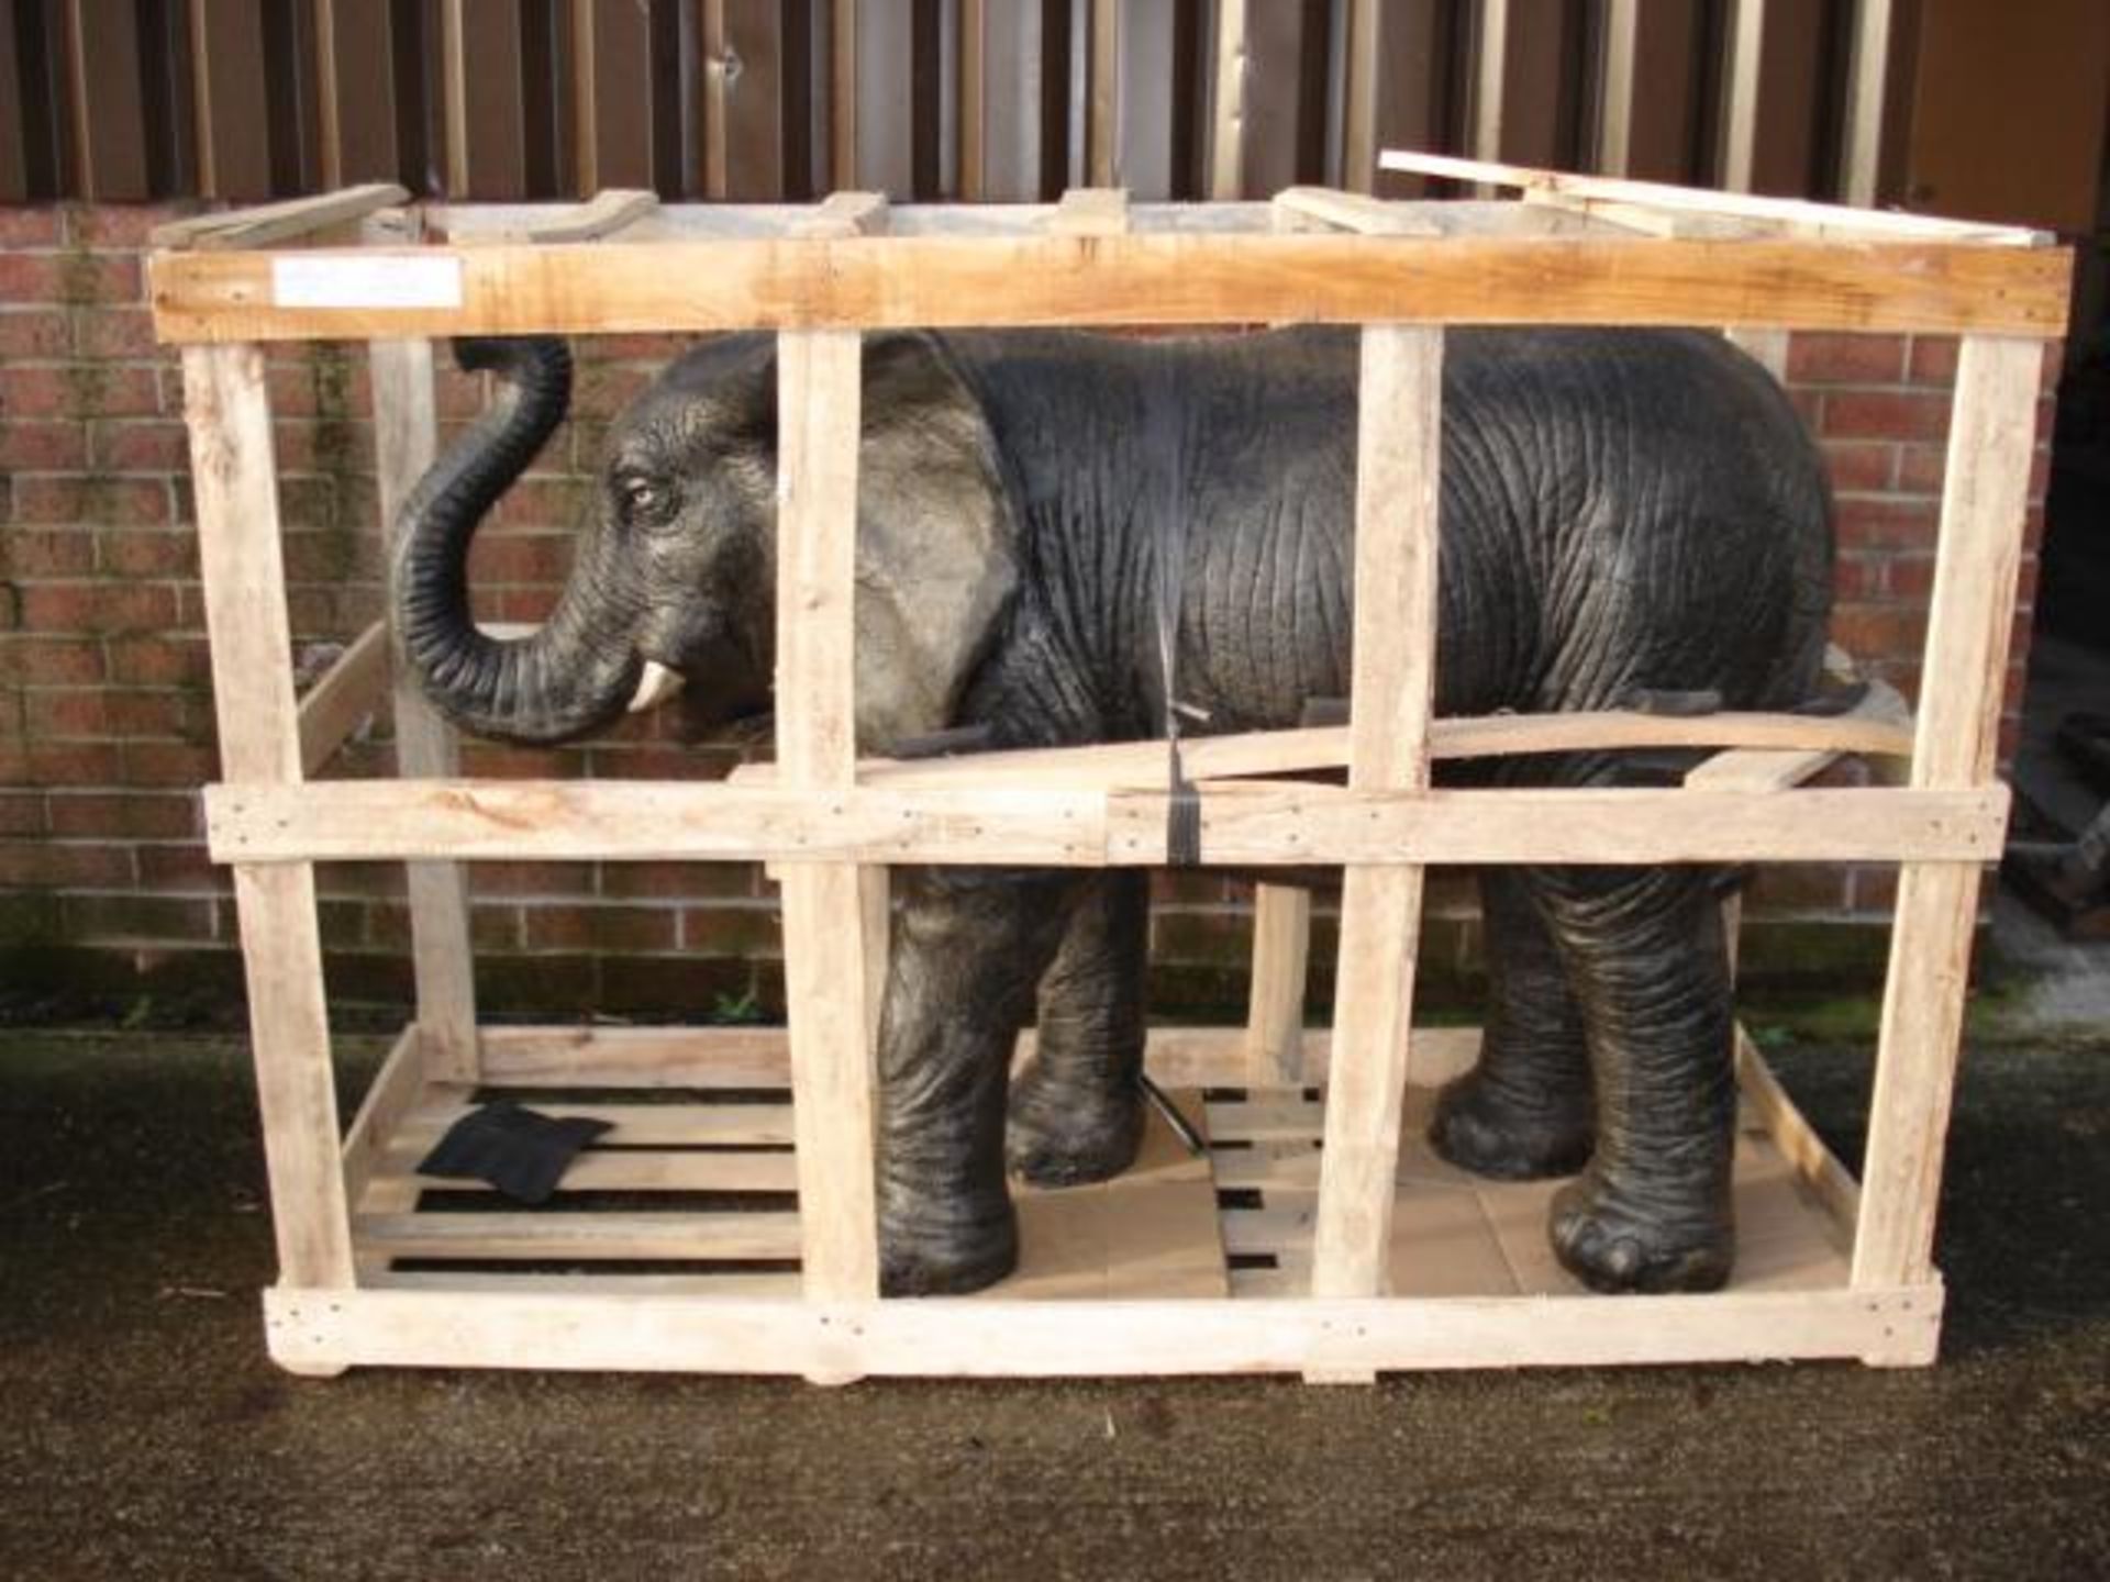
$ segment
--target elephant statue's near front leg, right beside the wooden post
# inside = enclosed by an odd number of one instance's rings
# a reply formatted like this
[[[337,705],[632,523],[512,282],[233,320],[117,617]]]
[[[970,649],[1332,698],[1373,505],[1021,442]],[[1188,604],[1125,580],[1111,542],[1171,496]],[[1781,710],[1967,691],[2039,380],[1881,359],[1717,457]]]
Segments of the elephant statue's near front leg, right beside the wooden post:
[[[1004,1188],[1011,1050],[1070,877],[897,869],[880,1019],[880,1289],[979,1291],[1019,1257]]]

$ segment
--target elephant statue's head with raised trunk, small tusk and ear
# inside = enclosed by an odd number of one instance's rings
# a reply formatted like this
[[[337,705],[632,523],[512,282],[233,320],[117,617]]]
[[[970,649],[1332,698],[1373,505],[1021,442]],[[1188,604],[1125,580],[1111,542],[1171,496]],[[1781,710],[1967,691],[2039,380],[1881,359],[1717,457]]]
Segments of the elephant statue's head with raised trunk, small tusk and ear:
[[[770,702],[776,359],[724,335],[673,363],[610,426],[570,580],[549,620],[500,639],[471,616],[468,546],[563,420],[557,340],[456,342],[496,399],[403,504],[399,654],[456,724],[563,742],[690,683],[696,728]],[[865,348],[857,523],[857,730],[867,751],[939,730],[1017,584],[987,424],[922,335]]]

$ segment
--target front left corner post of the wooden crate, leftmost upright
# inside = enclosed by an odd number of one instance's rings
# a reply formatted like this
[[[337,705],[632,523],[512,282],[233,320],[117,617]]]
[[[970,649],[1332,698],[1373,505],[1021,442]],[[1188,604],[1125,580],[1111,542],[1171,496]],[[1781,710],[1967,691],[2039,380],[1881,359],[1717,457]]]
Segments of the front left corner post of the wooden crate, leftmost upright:
[[[300,780],[293,643],[279,544],[270,397],[257,346],[186,346],[184,407],[198,500],[198,570],[213,645],[219,766],[230,783]],[[236,865],[249,1034],[279,1278],[352,1285],[329,1069],[323,945],[308,863]]]

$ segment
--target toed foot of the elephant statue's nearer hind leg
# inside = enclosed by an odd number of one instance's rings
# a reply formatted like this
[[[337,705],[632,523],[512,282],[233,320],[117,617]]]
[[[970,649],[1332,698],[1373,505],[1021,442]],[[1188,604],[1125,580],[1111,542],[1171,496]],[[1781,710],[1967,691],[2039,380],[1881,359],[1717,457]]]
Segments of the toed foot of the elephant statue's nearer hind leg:
[[[1591,1171],[1553,1194],[1547,1234],[1561,1266],[1591,1291],[1720,1291],[1737,1251],[1728,1188],[1699,1196],[1682,1211],[1652,1209]]]

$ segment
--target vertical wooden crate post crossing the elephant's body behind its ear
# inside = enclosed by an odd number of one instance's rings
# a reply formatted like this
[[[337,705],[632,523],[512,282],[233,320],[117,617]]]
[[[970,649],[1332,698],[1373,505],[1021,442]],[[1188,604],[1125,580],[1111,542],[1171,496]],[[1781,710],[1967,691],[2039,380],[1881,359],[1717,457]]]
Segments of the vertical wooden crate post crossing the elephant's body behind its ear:
[[[1428,785],[1435,707],[1443,331],[1365,327],[1359,407],[1348,785],[1414,789]],[[1420,867],[1348,869],[1315,1297],[1376,1295],[1384,1285],[1420,913]]]

